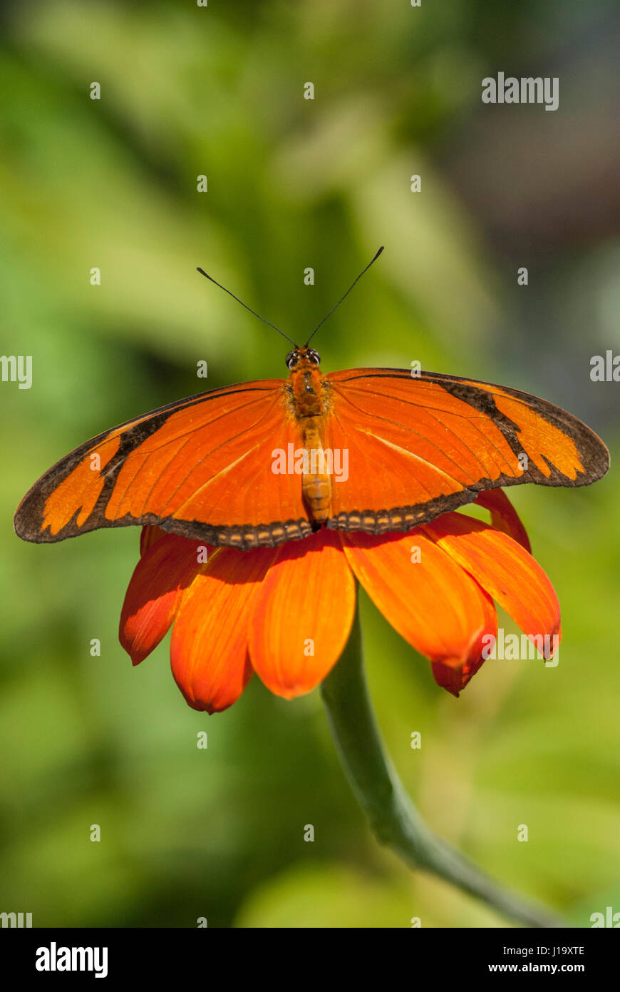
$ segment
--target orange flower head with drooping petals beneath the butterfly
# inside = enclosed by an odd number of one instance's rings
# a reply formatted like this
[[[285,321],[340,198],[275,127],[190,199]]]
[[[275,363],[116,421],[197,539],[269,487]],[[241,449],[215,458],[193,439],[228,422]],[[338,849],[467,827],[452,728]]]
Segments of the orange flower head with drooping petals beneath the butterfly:
[[[121,615],[134,665],[173,624],[172,674],[194,709],[213,713],[254,672],[287,699],[328,675],[351,633],[355,578],[389,623],[459,695],[497,631],[495,599],[530,637],[560,631],[554,588],[529,554],[501,490],[478,495],[492,526],[446,513],[406,534],[322,529],[303,541],[240,552],[145,528]],[[202,553],[200,550],[203,550]],[[552,652],[553,653],[553,652]]]

